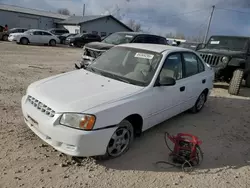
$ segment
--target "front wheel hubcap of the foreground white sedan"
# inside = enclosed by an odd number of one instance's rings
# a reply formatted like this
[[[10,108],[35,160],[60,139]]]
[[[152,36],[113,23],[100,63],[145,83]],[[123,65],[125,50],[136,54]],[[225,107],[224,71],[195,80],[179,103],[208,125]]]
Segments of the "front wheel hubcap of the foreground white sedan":
[[[109,155],[116,157],[124,152],[128,147],[131,134],[126,128],[119,128],[112,135],[108,145]]]

